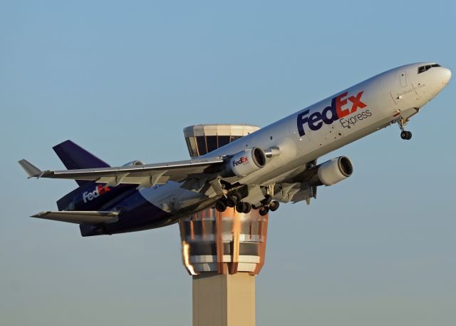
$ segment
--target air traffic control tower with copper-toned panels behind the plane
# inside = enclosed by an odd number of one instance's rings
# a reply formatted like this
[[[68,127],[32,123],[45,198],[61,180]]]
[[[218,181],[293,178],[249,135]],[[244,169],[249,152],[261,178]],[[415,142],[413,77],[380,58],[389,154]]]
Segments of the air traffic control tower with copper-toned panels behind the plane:
[[[247,125],[184,129],[190,156],[257,131]],[[179,223],[182,260],[192,275],[193,326],[254,326],[255,275],[264,264],[268,215],[207,208]]]

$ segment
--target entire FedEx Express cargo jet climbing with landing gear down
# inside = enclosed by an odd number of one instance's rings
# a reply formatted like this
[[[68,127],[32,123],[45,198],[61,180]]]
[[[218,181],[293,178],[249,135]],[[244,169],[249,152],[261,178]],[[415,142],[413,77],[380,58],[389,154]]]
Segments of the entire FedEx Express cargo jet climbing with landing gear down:
[[[317,163],[320,156],[393,123],[410,140],[408,121],[450,78],[437,63],[400,66],[189,161],[110,167],[65,141],[54,150],[68,170],[42,171],[19,161],[29,178],[79,185],[57,201],[58,211],[33,217],[77,223],[83,236],[111,235],[170,225],[208,207],[265,215],[279,203],[309,204],[318,186],[353,173],[347,157]]]

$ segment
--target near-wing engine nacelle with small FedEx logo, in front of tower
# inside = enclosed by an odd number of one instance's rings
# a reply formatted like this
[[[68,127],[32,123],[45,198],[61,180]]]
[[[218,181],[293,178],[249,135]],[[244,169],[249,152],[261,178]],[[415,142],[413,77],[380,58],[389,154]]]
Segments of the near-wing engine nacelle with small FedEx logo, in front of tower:
[[[254,147],[234,154],[225,165],[222,176],[243,177],[263,168],[266,165],[266,154],[259,147]]]

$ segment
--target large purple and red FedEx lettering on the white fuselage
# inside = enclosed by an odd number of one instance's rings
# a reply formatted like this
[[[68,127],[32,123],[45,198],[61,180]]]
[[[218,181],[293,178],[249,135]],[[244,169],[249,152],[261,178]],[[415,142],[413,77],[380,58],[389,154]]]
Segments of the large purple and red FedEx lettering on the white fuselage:
[[[309,126],[311,131],[317,131],[323,126],[323,123],[330,125],[336,120],[348,116],[348,114],[355,113],[358,108],[366,108],[366,104],[361,102],[361,96],[363,92],[359,92],[356,96],[348,96],[348,92],[342,93],[331,100],[331,106],[326,106],[321,112],[314,112],[309,116],[309,110],[298,114],[297,126],[299,136],[304,136],[304,126]],[[348,102],[351,102],[351,107],[346,106]]]

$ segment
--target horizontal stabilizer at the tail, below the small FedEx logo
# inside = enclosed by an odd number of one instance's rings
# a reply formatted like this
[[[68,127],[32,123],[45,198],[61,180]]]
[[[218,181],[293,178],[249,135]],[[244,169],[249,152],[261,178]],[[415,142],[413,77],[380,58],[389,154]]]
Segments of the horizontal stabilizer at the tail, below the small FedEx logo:
[[[68,223],[90,223],[90,224],[98,224],[104,223],[108,220],[112,220],[117,215],[118,212],[99,212],[96,210],[93,211],[59,211],[59,212],[41,212],[36,215],[32,215],[32,218],[45,218],[46,220],[58,220],[61,222],[68,222]]]

